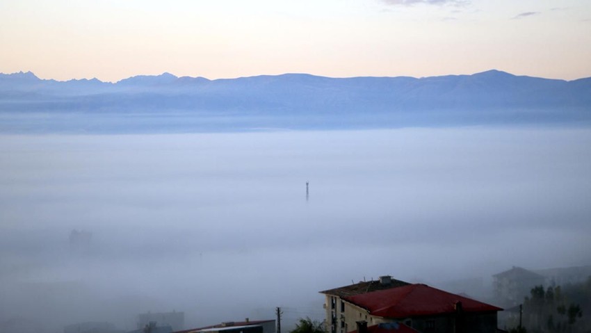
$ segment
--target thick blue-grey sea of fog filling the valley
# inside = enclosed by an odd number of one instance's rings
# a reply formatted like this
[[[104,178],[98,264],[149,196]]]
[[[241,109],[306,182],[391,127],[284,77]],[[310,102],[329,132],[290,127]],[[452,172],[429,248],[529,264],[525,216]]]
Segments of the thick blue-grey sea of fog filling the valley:
[[[289,328],[380,275],[485,298],[512,266],[591,264],[590,203],[589,129],[4,135],[0,323]]]

